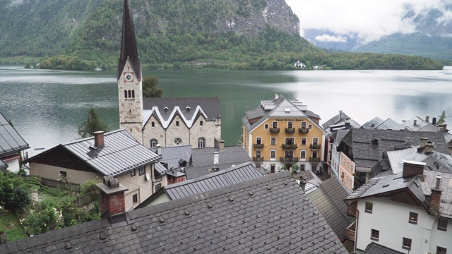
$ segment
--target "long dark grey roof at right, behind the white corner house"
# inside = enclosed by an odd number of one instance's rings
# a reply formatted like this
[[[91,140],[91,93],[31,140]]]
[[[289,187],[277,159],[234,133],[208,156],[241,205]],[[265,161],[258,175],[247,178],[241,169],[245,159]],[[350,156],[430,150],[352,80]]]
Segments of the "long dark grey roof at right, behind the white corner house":
[[[384,151],[391,151],[397,145],[420,145],[420,138],[427,137],[434,142],[434,150],[449,155],[448,145],[442,133],[428,131],[393,131],[393,130],[370,130],[352,129],[342,139],[339,150],[344,145],[352,147],[353,161],[358,168],[370,168],[383,157]],[[372,145],[371,140],[378,140],[378,145]]]

